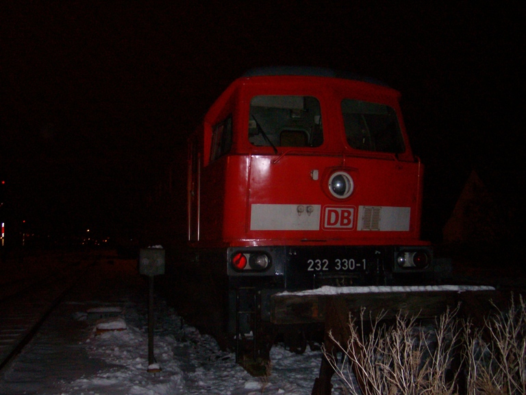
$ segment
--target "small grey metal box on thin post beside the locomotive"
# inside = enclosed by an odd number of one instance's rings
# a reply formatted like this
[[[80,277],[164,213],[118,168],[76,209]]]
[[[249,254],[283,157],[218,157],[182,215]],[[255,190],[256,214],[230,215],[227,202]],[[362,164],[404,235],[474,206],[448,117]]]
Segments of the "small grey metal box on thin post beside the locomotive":
[[[149,277],[148,372],[157,373],[161,371],[161,368],[153,355],[153,278],[164,274],[164,248],[162,246],[140,249],[139,273]]]

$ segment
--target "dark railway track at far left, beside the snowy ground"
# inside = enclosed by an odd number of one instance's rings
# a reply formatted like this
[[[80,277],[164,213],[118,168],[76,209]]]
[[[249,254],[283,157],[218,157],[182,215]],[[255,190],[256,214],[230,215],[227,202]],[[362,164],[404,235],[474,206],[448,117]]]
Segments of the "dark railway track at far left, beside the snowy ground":
[[[82,278],[97,256],[74,254],[55,263],[45,276],[18,278],[0,294],[0,372],[38,332],[64,294]]]

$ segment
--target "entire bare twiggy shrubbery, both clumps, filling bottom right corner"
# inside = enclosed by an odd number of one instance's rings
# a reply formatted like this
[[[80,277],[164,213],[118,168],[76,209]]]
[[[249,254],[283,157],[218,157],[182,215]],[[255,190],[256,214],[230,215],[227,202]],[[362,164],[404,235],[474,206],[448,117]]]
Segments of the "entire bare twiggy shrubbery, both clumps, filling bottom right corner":
[[[486,318],[484,328],[475,328],[457,313],[458,308],[448,310],[429,327],[402,313],[394,324],[382,324],[385,313],[367,318],[362,309],[360,320],[349,317],[347,344],[329,333],[336,348],[324,347],[323,353],[349,394],[453,395],[461,381],[468,395],[526,394],[522,296],[518,305],[512,298],[507,311]],[[365,322],[370,322],[370,331]]]

